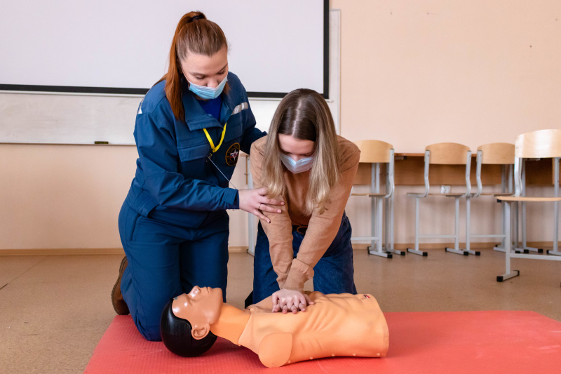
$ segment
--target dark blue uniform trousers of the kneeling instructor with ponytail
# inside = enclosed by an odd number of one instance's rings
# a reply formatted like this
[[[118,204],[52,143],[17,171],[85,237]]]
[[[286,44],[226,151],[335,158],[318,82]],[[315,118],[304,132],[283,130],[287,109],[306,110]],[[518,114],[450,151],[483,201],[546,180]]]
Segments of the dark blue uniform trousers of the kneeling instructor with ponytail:
[[[226,301],[228,225],[226,211],[205,227],[187,229],[144,217],[123,203],[119,234],[128,266],[121,293],[144,338],[161,340],[163,307],[193,286],[222,288]]]

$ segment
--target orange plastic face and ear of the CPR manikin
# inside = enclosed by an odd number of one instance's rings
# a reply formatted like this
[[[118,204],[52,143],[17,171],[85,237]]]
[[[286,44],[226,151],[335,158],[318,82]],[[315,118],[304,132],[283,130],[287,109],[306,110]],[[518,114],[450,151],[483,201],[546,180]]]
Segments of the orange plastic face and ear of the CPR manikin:
[[[210,331],[210,325],[218,321],[222,310],[222,290],[194,286],[190,293],[173,299],[172,310],[175,316],[191,323],[193,338],[202,339]]]

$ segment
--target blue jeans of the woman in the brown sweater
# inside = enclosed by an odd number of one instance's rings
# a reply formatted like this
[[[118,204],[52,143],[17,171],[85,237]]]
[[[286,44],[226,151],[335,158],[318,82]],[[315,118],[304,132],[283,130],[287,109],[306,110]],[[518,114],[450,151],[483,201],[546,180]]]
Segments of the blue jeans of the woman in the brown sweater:
[[[353,279],[351,232],[349,218],[343,213],[337,236],[335,236],[323,257],[313,267],[313,290],[325,294],[356,294]],[[294,251],[295,258],[304,235],[297,232],[295,228],[292,229],[292,251]],[[273,270],[273,263],[269,254],[269,239],[267,239],[261,222],[259,222],[257,227],[257,243],[255,244],[255,258],[253,260],[253,303],[268,298],[275,291],[279,290],[276,278],[277,274]]]

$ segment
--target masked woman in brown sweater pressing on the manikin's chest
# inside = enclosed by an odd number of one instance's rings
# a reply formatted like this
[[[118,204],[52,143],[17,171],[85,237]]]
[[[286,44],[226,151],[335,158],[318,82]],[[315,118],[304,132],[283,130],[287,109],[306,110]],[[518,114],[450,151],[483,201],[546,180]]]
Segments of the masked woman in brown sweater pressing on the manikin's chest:
[[[316,91],[298,89],[280,102],[269,135],[251,147],[255,187],[285,202],[280,214],[264,212],[270,223],[259,222],[252,302],[273,295],[274,312],[304,311],[313,303],[302,293],[311,278],[321,293],[356,294],[344,208],[359,158]]]

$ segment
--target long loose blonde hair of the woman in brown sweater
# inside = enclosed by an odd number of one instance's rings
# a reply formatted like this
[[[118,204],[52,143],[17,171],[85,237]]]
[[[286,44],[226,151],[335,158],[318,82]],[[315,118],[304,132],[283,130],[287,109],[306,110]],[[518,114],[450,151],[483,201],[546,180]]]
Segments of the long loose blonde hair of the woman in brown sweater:
[[[329,194],[339,182],[339,147],[333,117],[327,103],[319,93],[299,88],[288,93],[271,121],[263,158],[263,184],[269,196],[284,196],[284,166],[280,157],[278,134],[291,135],[295,139],[316,142],[310,171],[310,184],[306,193],[306,213],[314,208],[325,211]]]

